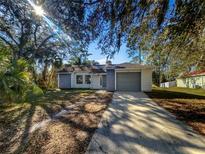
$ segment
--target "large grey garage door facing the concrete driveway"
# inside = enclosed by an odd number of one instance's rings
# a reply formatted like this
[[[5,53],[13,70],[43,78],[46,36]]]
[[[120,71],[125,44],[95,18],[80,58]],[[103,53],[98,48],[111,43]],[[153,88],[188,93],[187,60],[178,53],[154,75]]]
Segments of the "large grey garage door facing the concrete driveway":
[[[116,73],[116,84],[118,91],[141,91],[141,73]]]

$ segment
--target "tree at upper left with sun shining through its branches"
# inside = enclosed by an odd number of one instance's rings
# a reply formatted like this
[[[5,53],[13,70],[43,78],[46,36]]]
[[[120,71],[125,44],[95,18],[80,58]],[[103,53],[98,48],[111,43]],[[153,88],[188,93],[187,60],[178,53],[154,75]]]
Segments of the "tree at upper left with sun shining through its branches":
[[[62,60],[68,54],[75,54],[76,42],[77,45],[88,44],[85,41],[88,39],[83,22],[84,9],[82,1],[77,4],[62,0],[60,3],[55,0],[34,3],[42,5],[45,17],[37,16],[28,1],[0,2],[0,40],[10,47],[10,63],[23,58],[32,66],[29,71],[35,83],[41,80],[42,87],[47,87],[50,85],[48,78],[54,76]],[[66,42],[68,35],[72,40]],[[43,69],[36,69],[39,65]],[[37,71],[42,71],[41,79]]]

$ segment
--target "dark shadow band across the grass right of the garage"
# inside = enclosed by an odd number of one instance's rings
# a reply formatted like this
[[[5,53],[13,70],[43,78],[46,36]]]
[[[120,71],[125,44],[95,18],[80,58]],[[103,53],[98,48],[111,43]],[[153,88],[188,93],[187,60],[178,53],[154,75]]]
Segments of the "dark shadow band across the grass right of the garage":
[[[156,99],[205,99],[205,96],[157,89],[154,89],[152,92],[146,92],[146,94],[149,95],[150,98]]]

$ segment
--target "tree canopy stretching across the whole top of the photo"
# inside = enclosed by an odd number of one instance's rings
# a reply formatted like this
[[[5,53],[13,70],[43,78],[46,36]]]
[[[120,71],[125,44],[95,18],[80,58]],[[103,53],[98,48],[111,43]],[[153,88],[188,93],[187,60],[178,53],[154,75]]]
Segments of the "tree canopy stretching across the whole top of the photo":
[[[157,45],[162,35],[164,45],[184,47],[200,39],[205,26],[203,0],[35,0],[34,3],[43,6],[72,40],[87,45],[97,39],[103,53],[110,57],[119,51],[122,42],[131,49],[139,46],[146,49]],[[56,39],[48,25],[32,12],[27,0],[2,0],[0,6],[0,38],[17,50],[17,56],[28,54],[31,49],[35,53],[45,53],[47,48],[53,52],[59,50],[62,40]],[[67,50],[72,51],[71,42],[66,43]]]

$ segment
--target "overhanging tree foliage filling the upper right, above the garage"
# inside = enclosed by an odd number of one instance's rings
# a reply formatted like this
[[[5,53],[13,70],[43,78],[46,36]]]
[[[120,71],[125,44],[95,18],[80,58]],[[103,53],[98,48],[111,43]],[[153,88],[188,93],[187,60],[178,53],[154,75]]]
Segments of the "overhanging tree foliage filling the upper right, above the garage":
[[[205,68],[204,0],[97,0],[89,6],[88,21],[105,54],[112,57],[127,43],[132,62],[139,63],[140,50],[159,80]]]

